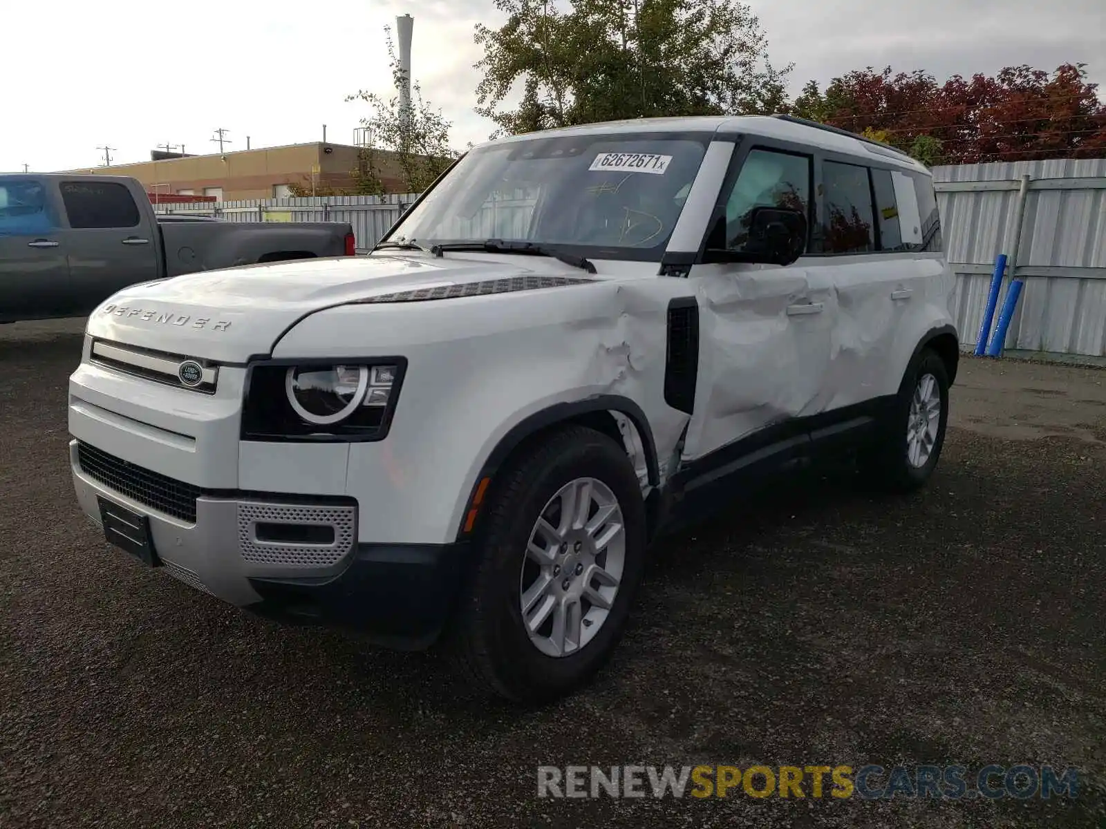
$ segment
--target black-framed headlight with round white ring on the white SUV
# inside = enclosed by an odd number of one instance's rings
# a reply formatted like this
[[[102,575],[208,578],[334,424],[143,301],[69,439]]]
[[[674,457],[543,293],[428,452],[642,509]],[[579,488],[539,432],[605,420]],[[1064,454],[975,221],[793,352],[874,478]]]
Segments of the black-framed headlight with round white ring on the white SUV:
[[[250,367],[243,440],[379,440],[406,360],[258,363]]]

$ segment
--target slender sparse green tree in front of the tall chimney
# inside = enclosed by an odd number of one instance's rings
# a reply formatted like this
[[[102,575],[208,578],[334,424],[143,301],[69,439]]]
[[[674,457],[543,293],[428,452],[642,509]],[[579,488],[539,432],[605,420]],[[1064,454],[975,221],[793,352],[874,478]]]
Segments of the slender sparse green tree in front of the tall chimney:
[[[390,27],[384,28],[392,66],[393,85],[404,82],[404,70],[396,55]],[[418,81],[411,81],[411,99],[407,112],[398,93],[384,98],[362,90],[346,101],[363,101],[369,115],[361,119],[367,129],[368,144],[362,150],[358,167],[352,171],[357,192],[379,195],[385,191],[384,178],[389,169],[398,172],[404,192],[421,192],[459,155],[449,146],[452,124],[422,98]]]

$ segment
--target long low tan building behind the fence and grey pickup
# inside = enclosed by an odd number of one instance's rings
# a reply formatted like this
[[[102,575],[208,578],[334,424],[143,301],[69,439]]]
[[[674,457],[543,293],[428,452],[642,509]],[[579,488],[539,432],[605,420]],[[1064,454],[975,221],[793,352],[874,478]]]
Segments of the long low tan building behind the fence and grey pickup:
[[[304,188],[307,195],[312,183],[322,192],[353,188],[351,174],[357,167],[357,154],[358,148],[351,145],[319,141],[66,172],[132,176],[150,193],[215,196],[220,201],[273,199],[290,196],[290,185]],[[376,151],[385,189],[396,192],[403,182],[389,155]]]

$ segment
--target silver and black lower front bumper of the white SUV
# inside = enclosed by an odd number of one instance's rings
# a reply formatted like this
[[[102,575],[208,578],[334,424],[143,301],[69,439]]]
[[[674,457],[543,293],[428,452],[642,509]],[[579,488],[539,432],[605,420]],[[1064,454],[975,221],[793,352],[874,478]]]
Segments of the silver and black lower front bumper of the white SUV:
[[[77,440],[70,460],[90,518],[98,499],[146,516],[167,574],[238,607],[400,648],[430,644],[452,609],[467,548],[358,543],[353,499],[189,487]]]

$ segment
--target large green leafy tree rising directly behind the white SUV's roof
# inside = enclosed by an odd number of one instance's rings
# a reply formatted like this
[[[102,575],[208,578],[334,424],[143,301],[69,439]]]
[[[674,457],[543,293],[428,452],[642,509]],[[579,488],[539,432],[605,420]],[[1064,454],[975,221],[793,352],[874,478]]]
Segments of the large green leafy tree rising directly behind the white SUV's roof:
[[[764,114],[786,103],[791,66],[768,60],[740,0],[495,0],[477,24],[477,112],[502,134],[665,115]],[[513,109],[503,103],[521,83]]]

